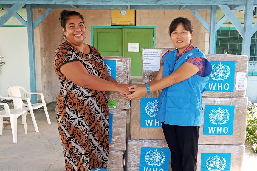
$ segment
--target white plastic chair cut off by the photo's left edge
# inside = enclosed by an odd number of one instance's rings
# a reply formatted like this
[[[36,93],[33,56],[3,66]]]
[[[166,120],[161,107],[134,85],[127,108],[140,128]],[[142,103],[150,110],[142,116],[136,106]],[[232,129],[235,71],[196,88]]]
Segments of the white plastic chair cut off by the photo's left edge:
[[[3,99],[13,99],[18,100],[19,98],[14,97],[3,97],[0,95],[0,98]],[[0,103],[0,107],[4,106],[4,110],[0,111],[0,135],[3,135],[3,120],[4,117],[10,117],[10,123],[12,128],[12,134],[13,134],[13,143],[18,142],[18,136],[17,136],[17,118],[22,115],[22,122],[24,124],[24,130],[25,134],[28,134],[27,131],[27,123],[26,123],[26,115],[27,111],[22,108],[16,108],[16,109],[10,109],[7,103]]]

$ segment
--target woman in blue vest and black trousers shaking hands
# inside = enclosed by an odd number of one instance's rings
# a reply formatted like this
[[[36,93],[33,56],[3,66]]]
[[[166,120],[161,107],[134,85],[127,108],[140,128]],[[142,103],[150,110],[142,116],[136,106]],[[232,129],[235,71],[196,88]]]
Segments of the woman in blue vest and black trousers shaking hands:
[[[171,151],[174,171],[196,171],[199,127],[202,122],[202,94],[212,65],[205,54],[191,43],[193,26],[188,18],[178,17],[169,27],[177,48],[165,54],[154,80],[131,85],[129,99],[161,90],[157,120]]]

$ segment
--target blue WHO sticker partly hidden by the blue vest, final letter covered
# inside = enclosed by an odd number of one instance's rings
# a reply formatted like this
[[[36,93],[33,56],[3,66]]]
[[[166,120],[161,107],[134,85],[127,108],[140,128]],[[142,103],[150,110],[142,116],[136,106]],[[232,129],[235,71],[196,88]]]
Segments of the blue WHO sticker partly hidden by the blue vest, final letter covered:
[[[140,98],[140,127],[162,127],[156,120],[159,98]]]

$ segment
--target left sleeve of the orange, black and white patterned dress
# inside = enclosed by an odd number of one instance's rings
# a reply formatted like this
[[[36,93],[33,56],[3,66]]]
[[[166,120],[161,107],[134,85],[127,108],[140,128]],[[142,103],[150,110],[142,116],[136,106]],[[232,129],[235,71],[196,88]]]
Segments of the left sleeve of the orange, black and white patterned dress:
[[[68,44],[61,44],[55,51],[54,67],[60,70],[61,66],[72,61],[79,61],[75,52],[72,52]]]

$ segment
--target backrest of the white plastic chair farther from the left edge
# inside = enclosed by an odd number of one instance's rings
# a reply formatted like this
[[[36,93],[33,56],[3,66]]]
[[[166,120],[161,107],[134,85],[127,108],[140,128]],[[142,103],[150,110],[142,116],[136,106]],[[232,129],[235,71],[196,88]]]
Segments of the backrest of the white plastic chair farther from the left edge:
[[[7,93],[11,96],[11,97],[21,97],[21,91],[20,89],[23,89],[24,91],[26,91],[23,87],[21,86],[12,86],[12,87],[8,87],[7,88]],[[21,98],[15,98],[13,99],[13,107],[14,109],[20,109],[22,108],[22,104],[23,101]]]

